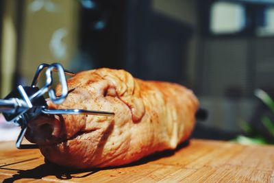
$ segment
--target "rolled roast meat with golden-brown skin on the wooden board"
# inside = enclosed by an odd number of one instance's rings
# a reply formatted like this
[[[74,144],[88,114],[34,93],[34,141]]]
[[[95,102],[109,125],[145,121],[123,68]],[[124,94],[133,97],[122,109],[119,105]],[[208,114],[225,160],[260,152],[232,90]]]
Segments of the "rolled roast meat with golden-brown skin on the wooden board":
[[[68,84],[75,90],[62,105],[49,103],[50,108],[103,110],[115,116],[41,116],[31,121],[27,138],[56,164],[76,168],[127,164],[175,149],[195,125],[197,98],[179,84],[145,82],[114,69],[77,73]]]

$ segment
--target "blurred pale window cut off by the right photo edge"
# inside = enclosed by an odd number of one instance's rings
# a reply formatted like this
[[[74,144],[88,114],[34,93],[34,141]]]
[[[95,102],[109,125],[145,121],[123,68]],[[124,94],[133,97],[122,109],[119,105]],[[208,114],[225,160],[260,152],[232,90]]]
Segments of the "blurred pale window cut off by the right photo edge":
[[[262,23],[256,27],[257,36],[274,36],[274,6],[264,8]]]

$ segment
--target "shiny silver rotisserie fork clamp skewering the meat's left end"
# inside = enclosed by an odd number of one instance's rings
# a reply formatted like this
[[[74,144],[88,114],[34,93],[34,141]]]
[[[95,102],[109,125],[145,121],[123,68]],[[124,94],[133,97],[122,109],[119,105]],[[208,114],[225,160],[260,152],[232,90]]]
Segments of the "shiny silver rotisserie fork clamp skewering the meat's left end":
[[[41,73],[45,70],[46,82],[42,88],[38,88],[38,80]],[[52,88],[53,77],[52,72],[58,73],[59,83],[61,85],[61,95],[57,96],[55,90]],[[114,112],[82,110],[82,109],[64,109],[64,110],[50,110],[47,107],[47,101],[43,97],[45,93],[49,94],[49,99],[55,103],[63,103],[69,94],[69,88],[66,83],[66,75],[75,75],[71,71],[64,70],[61,64],[40,64],[34,75],[34,80],[31,86],[19,85],[15,90],[5,97],[0,99],[0,112],[3,113],[5,120],[13,121],[16,125],[21,126],[21,132],[16,141],[18,149],[34,149],[38,148],[35,144],[23,145],[22,141],[27,131],[27,123],[37,117],[39,114],[86,114],[86,115],[101,115],[113,116]]]

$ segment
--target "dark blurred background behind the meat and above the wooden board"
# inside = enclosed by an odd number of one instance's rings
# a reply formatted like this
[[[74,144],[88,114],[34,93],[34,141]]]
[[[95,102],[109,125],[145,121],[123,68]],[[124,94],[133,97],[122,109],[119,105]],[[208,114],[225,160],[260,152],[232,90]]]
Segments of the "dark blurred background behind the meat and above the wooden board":
[[[274,141],[274,0],[0,1],[1,98],[42,62],[183,84],[208,111],[193,137]]]

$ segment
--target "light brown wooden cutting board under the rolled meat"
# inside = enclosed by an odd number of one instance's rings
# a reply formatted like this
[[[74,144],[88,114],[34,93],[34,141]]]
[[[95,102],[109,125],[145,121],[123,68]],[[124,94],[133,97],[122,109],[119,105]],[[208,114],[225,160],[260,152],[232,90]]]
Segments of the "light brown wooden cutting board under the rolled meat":
[[[73,170],[45,164],[38,149],[0,143],[0,182],[274,182],[274,146],[191,140],[114,169]]]

